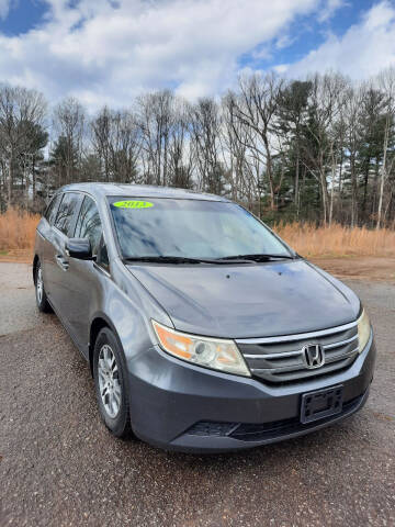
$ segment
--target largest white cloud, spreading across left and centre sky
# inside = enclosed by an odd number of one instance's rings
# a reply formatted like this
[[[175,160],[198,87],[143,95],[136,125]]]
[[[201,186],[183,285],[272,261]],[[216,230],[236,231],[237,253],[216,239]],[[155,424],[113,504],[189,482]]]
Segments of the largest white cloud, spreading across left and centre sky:
[[[218,93],[234,80],[241,55],[281,42],[295,16],[320,1],[48,3],[42,26],[15,37],[0,33],[0,80],[43,90],[52,101],[74,94],[94,110],[167,86],[189,98]]]

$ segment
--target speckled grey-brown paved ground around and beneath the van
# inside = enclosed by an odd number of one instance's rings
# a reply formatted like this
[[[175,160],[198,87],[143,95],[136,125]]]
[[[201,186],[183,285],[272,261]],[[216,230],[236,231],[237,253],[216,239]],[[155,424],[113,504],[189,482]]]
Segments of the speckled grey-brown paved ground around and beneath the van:
[[[395,285],[349,282],[376,332],[371,396],[349,421],[239,453],[112,437],[89,369],[31,268],[0,264],[0,525],[394,526]]]

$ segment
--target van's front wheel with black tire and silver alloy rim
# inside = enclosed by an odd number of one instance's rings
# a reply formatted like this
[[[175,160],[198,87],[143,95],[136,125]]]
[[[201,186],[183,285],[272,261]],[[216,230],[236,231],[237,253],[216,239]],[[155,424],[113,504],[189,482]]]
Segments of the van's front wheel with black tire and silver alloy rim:
[[[131,436],[125,360],[109,327],[101,329],[94,343],[93,378],[99,412],[105,426],[116,437]]]

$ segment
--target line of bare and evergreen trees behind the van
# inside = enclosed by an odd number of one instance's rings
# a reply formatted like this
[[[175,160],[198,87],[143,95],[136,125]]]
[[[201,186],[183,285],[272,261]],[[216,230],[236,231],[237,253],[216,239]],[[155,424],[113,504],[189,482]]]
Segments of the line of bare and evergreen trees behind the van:
[[[0,211],[38,212],[76,181],[212,192],[269,222],[394,228],[395,68],[360,83],[256,72],[221,99],[160,90],[93,116],[0,85]]]

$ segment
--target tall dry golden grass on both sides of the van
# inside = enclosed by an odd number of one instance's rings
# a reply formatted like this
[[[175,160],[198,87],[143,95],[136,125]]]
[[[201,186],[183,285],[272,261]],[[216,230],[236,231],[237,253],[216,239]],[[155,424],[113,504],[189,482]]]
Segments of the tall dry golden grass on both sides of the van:
[[[0,215],[0,257],[33,251],[38,214],[10,209]],[[306,257],[383,256],[395,257],[395,232],[382,228],[348,228],[341,225],[278,224],[274,231]]]

